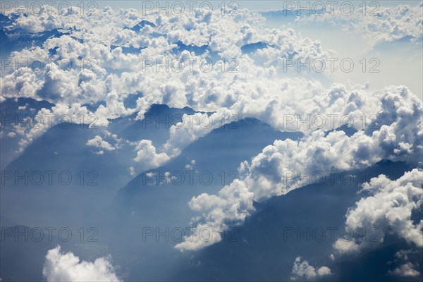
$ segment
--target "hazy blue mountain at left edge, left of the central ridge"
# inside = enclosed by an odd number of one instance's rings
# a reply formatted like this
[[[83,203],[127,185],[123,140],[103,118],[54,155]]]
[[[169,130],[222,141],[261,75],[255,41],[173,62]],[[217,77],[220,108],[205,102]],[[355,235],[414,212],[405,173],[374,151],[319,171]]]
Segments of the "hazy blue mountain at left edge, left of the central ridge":
[[[48,128],[22,154],[16,154],[21,136],[8,136],[14,131],[14,121],[22,121],[25,116],[33,118],[39,109],[52,106],[33,99],[6,99],[1,103],[2,121],[6,116],[12,118],[1,128],[1,212],[18,223],[66,219],[64,222],[72,224],[87,219],[87,214],[96,217],[94,214],[104,209],[117,190],[133,178],[129,168],[138,164],[134,161],[135,145],[130,142],[149,139],[160,147],[168,139],[171,125],[180,121],[183,114],[194,113],[188,107],[153,105],[143,120],[137,120],[135,115],[117,118],[110,121],[108,128],[63,123]],[[88,140],[96,136],[112,148],[88,146]],[[51,213],[51,209],[68,209],[71,216]]]

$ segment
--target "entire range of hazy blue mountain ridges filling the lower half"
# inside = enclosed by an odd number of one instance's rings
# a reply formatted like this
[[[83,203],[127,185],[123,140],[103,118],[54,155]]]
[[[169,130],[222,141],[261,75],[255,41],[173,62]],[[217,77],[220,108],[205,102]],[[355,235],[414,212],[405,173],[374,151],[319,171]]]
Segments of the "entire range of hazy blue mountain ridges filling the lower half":
[[[1,111],[23,117],[52,106],[33,99],[7,99],[1,104]],[[138,120],[135,114],[116,118],[109,121],[107,130],[128,142],[148,139],[161,148],[170,136],[171,125],[163,121],[169,116],[194,113],[188,107],[176,109],[155,104],[147,111],[145,119]],[[178,121],[180,119],[175,118],[172,124]],[[13,131],[10,125],[1,129],[4,133]],[[354,133],[348,128],[337,130],[344,130],[348,135]],[[395,252],[405,248],[403,240],[387,236],[385,242],[368,251],[364,259],[345,256],[332,261],[329,255],[333,252],[333,240],[329,240],[326,228],[342,230],[345,213],[360,200],[357,195],[360,185],[381,173],[391,179],[403,176],[405,171],[412,169],[404,162],[380,161],[366,173],[350,171],[354,179],[350,185],[339,179],[335,183],[326,180],[265,202],[255,202],[257,211],[243,225],[229,230],[226,240],[199,252],[181,253],[174,248],[178,242],[172,238],[154,240],[154,236],[152,240],[143,240],[144,228],[165,231],[166,228],[190,227],[192,211],[188,202],[192,197],[202,192],[215,194],[238,177],[237,169],[242,161],[250,160],[276,139],[300,140],[302,133],[281,132],[255,118],[244,118],[212,130],[185,147],[178,157],[135,177],[128,172],[135,157],[133,147],[123,142],[118,149],[96,154],[97,148],[86,144],[96,135],[106,136],[104,128],[56,125],[10,161],[3,171],[22,175],[25,171],[54,169],[70,171],[73,176],[79,171],[96,171],[99,184],[90,186],[76,182],[46,186],[8,182],[1,188],[1,227],[61,224],[78,229],[78,226],[95,226],[99,230],[98,243],[87,244],[82,249],[72,248],[82,257],[90,257],[99,245],[107,246],[107,252],[104,250],[97,255],[113,254],[120,266],[118,273],[125,280],[287,281],[295,257],[301,256],[312,264],[329,266],[333,275],[325,276],[326,281],[398,281],[396,276],[386,276],[386,273],[393,268],[389,262],[393,261]],[[16,137],[4,136],[1,142],[2,156],[13,158],[8,150],[16,148],[13,147]],[[296,235],[286,237],[288,229],[304,233],[307,228],[324,228],[325,240],[307,240],[307,235],[302,235],[300,240]],[[7,240],[8,243],[2,243],[1,247],[4,261],[1,277],[10,281],[40,278],[47,250],[58,243],[11,243],[11,238]],[[151,257],[154,259],[149,259]],[[369,271],[372,266],[379,270]],[[17,273],[16,268],[25,271]],[[419,268],[422,271],[422,264]],[[363,274],[360,269],[368,269],[372,276]]]

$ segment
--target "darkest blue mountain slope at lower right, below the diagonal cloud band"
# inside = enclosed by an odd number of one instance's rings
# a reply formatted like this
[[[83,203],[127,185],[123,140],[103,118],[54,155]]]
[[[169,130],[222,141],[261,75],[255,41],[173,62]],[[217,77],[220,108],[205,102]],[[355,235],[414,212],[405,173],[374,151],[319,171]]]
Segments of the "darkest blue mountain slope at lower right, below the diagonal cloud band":
[[[357,195],[360,184],[370,178],[386,174],[400,178],[411,168],[404,162],[381,161],[365,171],[350,171],[353,183],[346,185],[339,177],[326,178],[324,183],[307,185],[272,197],[257,204],[242,226],[226,234],[226,240],[197,252],[179,265],[178,281],[289,281],[293,262],[298,256],[311,265],[329,266],[333,275],[325,281],[395,281],[386,276],[389,261],[404,247],[405,242],[385,238],[384,244],[361,257],[329,259],[334,240],[345,228],[345,214],[362,195]],[[332,184],[332,180],[334,180]],[[307,228],[308,231],[307,231]],[[331,239],[332,229],[334,240]],[[321,232],[323,230],[323,232]],[[356,231],[357,232],[357,231]],[[395,245],[396,247],[392,247]],[[376,259],[377,258],[377,259]],[[376,264],[383,264],[379,268]],[[420,266],[422,268],[422,266]],[[372,269],[372,276],[364,269]],[[342,276],[341,276],[342,274]],[[418,277],[417,277],[418,278]]]

